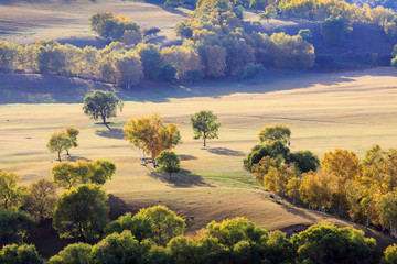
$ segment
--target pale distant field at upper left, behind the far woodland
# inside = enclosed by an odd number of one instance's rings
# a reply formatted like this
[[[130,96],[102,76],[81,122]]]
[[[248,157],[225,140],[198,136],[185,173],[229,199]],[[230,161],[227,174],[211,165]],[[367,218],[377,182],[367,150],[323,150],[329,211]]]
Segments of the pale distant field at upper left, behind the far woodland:
[[[55,38],[77,46],[104,46],[89,29],[88,19],[97,12],[125,14],[146,29],[161,29],[152,42],[167,44],[175,41],[175,24],[185,20],[190,10],[121,0],[0,0],[0,41],[32,44],[40,38]]]

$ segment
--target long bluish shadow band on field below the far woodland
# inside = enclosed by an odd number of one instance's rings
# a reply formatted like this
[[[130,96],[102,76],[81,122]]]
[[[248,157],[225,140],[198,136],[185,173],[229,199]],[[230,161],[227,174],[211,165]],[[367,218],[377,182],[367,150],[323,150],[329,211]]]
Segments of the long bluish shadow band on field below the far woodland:
[[[255,80],[203,80],[194,85],[163,84],[143,81],[130,90],[111,84],[93,80],[45,75],[0,74],[0,105],[6,103],[82,103],[84,97],[94,90],[115,92],[125,101],[169,102],[171,98],[191,97],[219,98],[233,94],[268,94],[279,90],[293,90],[313,85],[334,86],[354,81],[360,76],[396,76],[397,73],[383,68],[346,72],[313,73],[268,70],[262,78]]]

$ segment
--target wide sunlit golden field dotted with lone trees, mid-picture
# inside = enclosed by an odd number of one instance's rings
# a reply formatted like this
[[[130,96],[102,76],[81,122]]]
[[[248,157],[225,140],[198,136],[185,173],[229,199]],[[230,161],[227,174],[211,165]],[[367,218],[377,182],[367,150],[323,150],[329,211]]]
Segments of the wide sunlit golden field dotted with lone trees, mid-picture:
[[[51,177],[55,154],[46,140],[67,125],[81,130],[72,160],[107,158],[117,173],[105,185],[112,194],[112,216],[144,206],[167,205],[187,220],[189,231],[211,220],[244,216],[269,230],[311,224],[324,219],[346,222],[321,212],[277,205],[243,169],[243,158],[257,143],[265,124],[292,128],[291,151],[311,150],[320,156],[335,147],[355,151],[378,143],[397,147],[397,70],[313,74],[269,73],[255,81],[206,81],[198,85],[147,84],[130,91],[107,85],[60,77],[0,75],[0,168],[22,175],[23,184]],[[125,99],[111,130],[83,114],[85,94],[115,90]],[[192,139],[190,116],[213,110],[222,122],[219,139],[208,147]],[[160,113],[180,125],[183,144],[175,148],[182,173],[168,175],[140,165],[137,150],[122,139],[130,118]]]

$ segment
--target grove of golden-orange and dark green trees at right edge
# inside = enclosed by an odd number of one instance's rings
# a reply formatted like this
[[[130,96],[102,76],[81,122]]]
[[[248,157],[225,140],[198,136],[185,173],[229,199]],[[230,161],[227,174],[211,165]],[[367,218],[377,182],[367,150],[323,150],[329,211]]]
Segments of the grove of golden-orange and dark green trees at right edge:
[[[279,195],[300,199],[309,209],[337,211],[366,226],[382,226],[397,238],[397,151],[374,145],[360,161],[354,152],[336,148],[319,158],[310,151],[290,153],[291,131],[283,124],[266,125],[262,145],[244,165],[278,200]]]

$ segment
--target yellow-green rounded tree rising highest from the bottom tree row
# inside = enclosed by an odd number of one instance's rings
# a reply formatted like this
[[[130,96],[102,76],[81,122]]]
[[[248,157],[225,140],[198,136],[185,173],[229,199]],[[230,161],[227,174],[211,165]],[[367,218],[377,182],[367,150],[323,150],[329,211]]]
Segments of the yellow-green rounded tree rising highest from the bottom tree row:
[[[154,242],[165,245],[172,238],[184,232],[184,219],[178,217],[173,211],[164,206],[154,206],[140,209],[135,217],[144,217],[152,221],[154,231]]]

